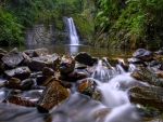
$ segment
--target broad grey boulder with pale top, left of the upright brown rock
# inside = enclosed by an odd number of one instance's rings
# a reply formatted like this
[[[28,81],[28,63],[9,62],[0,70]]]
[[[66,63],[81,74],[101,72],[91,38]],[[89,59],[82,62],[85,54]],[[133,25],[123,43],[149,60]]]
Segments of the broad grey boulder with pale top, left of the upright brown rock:
[[[25,59],[24,64],[33,71],[42,71],[43,67],[50,67],[57,69],[59,64],[59,56],[57,54],[33,57],[32,59]]]

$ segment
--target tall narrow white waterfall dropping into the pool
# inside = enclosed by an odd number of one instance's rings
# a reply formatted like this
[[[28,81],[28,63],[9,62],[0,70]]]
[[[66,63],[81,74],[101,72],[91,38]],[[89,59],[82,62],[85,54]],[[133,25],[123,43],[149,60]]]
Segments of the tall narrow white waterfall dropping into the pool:
[[[79,39],[76,32],[76,28],[74,25],[74,21],[72,17],[67,18],[67,27],[68,27],[68,38],[70,38],[70,44],[71,45],[78,45]]]

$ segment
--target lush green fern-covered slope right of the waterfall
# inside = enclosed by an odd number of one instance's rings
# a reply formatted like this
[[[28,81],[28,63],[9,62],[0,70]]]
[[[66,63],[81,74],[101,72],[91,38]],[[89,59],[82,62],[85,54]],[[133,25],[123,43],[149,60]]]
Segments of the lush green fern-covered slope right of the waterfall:
[[[98,33],[106,33],[93,44],[156,49],[163,42],[163,0],[98,0]],[[98,37],[100,37],[98,35]],[[102,37],[102,36],[101,36]],[[105,43],[105,44],[103,44]]]

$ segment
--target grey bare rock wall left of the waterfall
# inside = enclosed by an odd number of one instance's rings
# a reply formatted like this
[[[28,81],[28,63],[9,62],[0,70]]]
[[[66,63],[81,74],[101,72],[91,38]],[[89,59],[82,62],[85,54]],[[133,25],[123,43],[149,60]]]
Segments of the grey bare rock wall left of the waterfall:
[[[26,30],[25,40],[25,45],[54,44],[57,41],[62,41],[62,32],[54,31],[52,25],[48,28],[43,25],[34,25]]]

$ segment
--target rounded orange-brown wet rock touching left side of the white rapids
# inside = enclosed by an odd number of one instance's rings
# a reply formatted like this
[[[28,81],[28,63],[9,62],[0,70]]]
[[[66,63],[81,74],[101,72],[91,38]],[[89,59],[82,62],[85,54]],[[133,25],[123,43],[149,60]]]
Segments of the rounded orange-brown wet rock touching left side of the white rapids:
[[[95,89],[96,82],[92,79],[84,79],[79,81],[77,85],[77,91],[88,96],[92,96],[92,92],[95,91]]]

